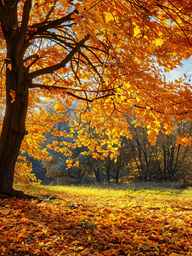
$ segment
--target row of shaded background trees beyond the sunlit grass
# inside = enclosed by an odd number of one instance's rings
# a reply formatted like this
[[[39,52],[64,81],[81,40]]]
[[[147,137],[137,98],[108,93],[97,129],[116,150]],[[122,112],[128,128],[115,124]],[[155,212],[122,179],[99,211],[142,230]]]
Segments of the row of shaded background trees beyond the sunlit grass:
[[[57,124],[57,129],[70,133],[70,123],[73,119],[74,113],[71,113],[69,121]],[[191,178],[192,147],[178,143],[178,136],[191,132],[190,120],[175,123],[172,134],[163,132],[163,129],[159,131],[156,144],[153,146],[148,140],[147,127],[135,125],[135,120],[129,117],[127,117],[127,123],[132,138],[121,137],[121,147],[118,148],[118,154],[114,159],[111,159],[110,152],[105,157],[94,158],[93,152],[89,152],[87,147],[76,147],[71,149],[70,159],[78,160],[79,165],[68,167],[68,156],[48,149],[53,159],[42,162],[47,169],[48,177],[54,177],[61,184],[163,182]],[[97,137],[97,135],[94,136]],[[53,141],[74,143],[74,138],[71,137],[55,137],[51,133],[46,137],[48,144]]]

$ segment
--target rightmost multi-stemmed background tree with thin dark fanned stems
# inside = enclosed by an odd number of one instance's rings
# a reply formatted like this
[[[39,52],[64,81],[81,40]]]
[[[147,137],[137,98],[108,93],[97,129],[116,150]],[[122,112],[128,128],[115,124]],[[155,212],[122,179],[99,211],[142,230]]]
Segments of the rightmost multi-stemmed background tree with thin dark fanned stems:
[[[184,137],[184,133],[191,134],[191,121],[189,120],[176,124],[170,135],[161,132],[155,147],[152,148],[159,170],[156,177],[161,180],[172,181],[172,179],[184,178],[184,174],[187,175],[186,171],[190,170],[188,161],[191,158],[191,146],[178,143],[177,139],[178,136]]]

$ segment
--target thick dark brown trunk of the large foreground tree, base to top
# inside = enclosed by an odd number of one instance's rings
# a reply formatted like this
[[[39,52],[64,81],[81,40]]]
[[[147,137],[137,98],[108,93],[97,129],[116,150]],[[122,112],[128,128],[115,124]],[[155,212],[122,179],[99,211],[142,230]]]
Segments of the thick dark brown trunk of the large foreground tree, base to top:
[[[6,111],[0,137],[0,194],[17,195],[13,189],[14,166],[20,144],[27,133],[25,117],[28,106],[28,69],[24,66],[25,39],[31,0],[25,2],[22,24],[18,26],[16,1],[0,1],[0,21],[7,44]],[[15,99],[10,93],[15,93]],[[14,100],[14,101],[13,101]]]

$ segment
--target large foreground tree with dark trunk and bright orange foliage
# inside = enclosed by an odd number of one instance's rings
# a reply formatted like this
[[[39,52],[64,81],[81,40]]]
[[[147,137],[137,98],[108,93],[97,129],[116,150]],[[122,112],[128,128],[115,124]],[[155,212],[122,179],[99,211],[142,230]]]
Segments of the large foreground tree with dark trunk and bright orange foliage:
[[[114,154],[115,141],[128,134],[124,113],[145,120],[153,143],[161,122],[172,131],[172,116],[183,119],[191,111],[190,93],[182,80],[167,84],[161,69],[169,71],[190,56],[190,5],[155,0],[0,0],[5,111],[0,193],[18,194],[13,189],[14,166],[21,143],[31,132],[31,125],[26,131],[25,120],[33,118],[32,109],[42,109],[46,98],[57,100],[58,112],[65,109],[63,101],[68,106],[74,97],[84,101],[82,121],[96,126],[101,135],[102,125],[97,124],[104,124],[106,143]],[[59,118],[55,116],[54,122]]]

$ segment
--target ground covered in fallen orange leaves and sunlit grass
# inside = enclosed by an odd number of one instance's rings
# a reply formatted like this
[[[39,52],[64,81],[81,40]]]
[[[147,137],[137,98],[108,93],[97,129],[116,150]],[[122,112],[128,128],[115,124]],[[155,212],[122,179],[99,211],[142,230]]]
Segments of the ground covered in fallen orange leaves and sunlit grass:
[[[192,255],[192,190],[22,186],[0,199],[0,255]]]

